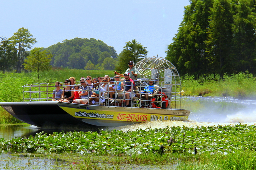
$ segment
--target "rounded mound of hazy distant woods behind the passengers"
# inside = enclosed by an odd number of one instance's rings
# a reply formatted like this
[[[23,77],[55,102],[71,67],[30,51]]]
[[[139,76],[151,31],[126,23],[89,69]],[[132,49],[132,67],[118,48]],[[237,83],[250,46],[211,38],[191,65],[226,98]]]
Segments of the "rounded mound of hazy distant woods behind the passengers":
[[[46,49],[53,54],[51,65],[55,67],[109,70],[111,65],[110,68],[115,68],[116,50],[93,38],[64,40]]]

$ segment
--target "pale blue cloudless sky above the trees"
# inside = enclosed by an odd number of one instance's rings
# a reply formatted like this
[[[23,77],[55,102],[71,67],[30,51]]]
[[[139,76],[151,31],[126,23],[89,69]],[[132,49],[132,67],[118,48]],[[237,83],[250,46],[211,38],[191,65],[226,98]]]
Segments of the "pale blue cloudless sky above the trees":
[[[119,54],[136,39],[148,57],[166,57],[189,0],[0,0],[0,37],[26,28],[34,47],[64,40],[94,38]]]

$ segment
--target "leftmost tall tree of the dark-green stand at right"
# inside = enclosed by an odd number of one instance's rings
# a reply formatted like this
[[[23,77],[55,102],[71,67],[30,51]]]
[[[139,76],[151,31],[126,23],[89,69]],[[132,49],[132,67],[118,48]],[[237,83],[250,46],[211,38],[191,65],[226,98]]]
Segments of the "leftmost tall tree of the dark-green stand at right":
[[[195,78],[208,71],[205,53],[210,8],[213,0],[190,0],[173,43],[168,46],[167,57],[181,75]]]

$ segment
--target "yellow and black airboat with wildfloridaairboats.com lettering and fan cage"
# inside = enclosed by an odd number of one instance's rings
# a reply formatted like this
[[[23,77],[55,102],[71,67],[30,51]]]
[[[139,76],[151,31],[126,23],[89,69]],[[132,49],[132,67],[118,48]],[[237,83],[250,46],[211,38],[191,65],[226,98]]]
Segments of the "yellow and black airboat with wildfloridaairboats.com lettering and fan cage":
[[[23,87],[23,102],[1,102],[0,105],[15,118],[44,129],[81,129],[118,127],[135,123],[164,120],[188,120],[190,110],[181,108],[181,80],[178,71],[168,60],[148,57],[136,63],[140,72],[132,98],[116,90],[116,99],[105,103],[82,105],[52,102],[54,83],[27,84]],[[147,98],[140,93],[153,79],[156,90]],[[140,98],[137,97],[140,95]],[[129,100],[129,107],[124,103]],[[142,107],[141,102],[147,103]]]

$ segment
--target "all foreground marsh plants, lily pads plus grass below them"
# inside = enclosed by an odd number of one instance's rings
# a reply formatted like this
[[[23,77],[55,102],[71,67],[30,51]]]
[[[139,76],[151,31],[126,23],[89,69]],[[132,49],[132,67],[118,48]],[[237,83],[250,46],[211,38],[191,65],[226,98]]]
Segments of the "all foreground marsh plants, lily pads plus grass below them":
[[[33,168],[32,158],[40,157],[55,162],[51,164],[54,169],[255,170],[255,129],[218,125],[128,132],[40,132],[29,138],[1,138],[0,143],[2,153],[18,148],[18,156],[29,157],[27,163]],[[168,145],[170,136],[175,142]],[[161,145],[164,152],[159,152]],[[16,158],[8,161],[5,169],[19,168]]]

